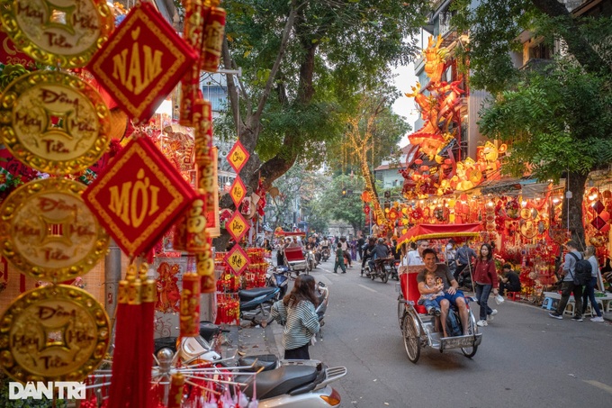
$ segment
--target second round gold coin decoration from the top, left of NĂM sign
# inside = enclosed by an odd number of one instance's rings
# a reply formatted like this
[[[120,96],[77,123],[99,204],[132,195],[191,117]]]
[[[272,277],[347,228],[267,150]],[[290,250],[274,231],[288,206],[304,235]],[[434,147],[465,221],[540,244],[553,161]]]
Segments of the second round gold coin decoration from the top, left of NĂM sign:
[[[110,112],[78,77],[35,71],[0,98],[0,140],[16,159],[49,174],[85,170],[110,142]]]

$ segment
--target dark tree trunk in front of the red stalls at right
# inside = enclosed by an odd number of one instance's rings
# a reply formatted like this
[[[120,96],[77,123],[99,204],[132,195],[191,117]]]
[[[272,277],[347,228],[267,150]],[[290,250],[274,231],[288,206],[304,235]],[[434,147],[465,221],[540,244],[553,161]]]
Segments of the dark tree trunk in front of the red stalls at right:
[[[565,178],[565,199],[563,200],[562,227],[568,228],[572,240],[578,242],[581,249],[585,249],[584,226],[582,225],[582,199],[584,197],[584,184],[588,174],[570,172]],[[572,192],[572,198],[567,198],[567,192]],[[568,222],[569,217],[569,222]]]

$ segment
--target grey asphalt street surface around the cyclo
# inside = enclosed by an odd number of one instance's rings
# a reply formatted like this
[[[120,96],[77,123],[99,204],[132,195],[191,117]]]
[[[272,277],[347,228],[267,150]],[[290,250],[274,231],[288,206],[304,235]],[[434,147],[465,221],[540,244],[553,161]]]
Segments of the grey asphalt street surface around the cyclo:
[[[329,260],[311,272],[330,290],[324,340],[311,357],[348,368],[334,383],[342,407],[612,406],[609,322],[558,321],[507,301],[495,306],[473,359],[426,349],[415,365],[397,322],[395,281],[359,277],[357,262],[346,275],[332,268]]]

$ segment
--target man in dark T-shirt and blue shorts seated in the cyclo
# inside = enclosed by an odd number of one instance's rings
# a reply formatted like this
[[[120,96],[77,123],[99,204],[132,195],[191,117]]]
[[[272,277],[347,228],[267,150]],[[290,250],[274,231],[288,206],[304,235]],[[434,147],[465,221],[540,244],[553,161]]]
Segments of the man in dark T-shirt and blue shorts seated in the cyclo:
[[[464,293],[460,290],[457,290],[459,284],[455,280],[455,277],[450,273],[446,264],[437,264],[437,256],[436,251],[434,249],[428,248],[423,250],[423,262],[425,263],[425,269],[419,272],[417,275],[417,282],[419,283],[419,293],[421,295],[425,294],[434,294],[440,291],[438,286],[434,286],[432,288],[425,287],[425,271],[432,271],[436,274],[436,279],[442,279],[442,290],[444,292],[444,297],[439,297],[439,304],[441,309],[440,321],[442,322],[442,331],[444,332],[444,337],[448,337],[446,333],[446,316],[448,315],[448,309],[451,304],[453,304],[459,310],[459,319],[461,320],[461,325],[464,330],[464,334],[466,334],[466,328],[468,327],[468,312],[467,312],[467,303],[465,301]]]

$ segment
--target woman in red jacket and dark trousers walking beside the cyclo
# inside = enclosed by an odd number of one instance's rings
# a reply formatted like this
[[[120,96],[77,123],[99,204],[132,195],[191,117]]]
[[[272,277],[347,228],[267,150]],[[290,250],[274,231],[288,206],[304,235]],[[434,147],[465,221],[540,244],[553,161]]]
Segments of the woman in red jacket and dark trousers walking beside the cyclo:
[[[480,254],[476,258],[474,266],[475,294],[478,304],[481,306],[480,320],[476,322],[480,327],[487,326],[487,320],[493,320],[498,312],[489,307],[489,295],[491,289],[493,295],[498,295],[498,277],[495,271],[495,260],[491,245],[482,244]]]

